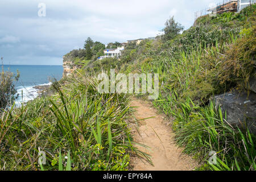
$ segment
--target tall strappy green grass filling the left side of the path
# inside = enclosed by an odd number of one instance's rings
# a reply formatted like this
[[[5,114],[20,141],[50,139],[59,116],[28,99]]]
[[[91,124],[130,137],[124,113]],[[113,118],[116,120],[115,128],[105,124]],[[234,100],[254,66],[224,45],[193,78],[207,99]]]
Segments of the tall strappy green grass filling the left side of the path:
[[[4,110],[0,169],[128,169],[130,154],[138,152],[127,127],[129,97],[100,94],[96,84],[96,78],[79,75],[63,85],[56,82],[54,96]],[[38,163],[39,147],[46,152],[47,163],[42,166]]]

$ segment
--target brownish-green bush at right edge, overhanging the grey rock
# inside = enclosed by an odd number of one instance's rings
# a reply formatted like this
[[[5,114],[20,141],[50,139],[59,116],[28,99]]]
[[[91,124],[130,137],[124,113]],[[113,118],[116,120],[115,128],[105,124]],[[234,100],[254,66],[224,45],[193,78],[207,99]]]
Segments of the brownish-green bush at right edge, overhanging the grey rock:
[[[221,58],[222,67],[218,78],[222,84],[249,89],[249,79],[255,78],[256,26],[241,32],[243,38],[230,47]]]

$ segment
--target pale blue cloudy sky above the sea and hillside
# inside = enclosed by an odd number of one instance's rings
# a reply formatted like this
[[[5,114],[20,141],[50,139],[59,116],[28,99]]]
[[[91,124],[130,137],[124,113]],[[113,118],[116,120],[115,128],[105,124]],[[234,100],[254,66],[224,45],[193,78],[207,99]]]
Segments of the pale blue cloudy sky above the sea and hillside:
[[[0,57],[4,64],[61,65],[62,56],[82,48],[88,37],[107,44],[156,36],[170,16],[187,29],[195,11],[218,2],[1,0]],[[39,3],[46,5],[46,16],[39,16]]]

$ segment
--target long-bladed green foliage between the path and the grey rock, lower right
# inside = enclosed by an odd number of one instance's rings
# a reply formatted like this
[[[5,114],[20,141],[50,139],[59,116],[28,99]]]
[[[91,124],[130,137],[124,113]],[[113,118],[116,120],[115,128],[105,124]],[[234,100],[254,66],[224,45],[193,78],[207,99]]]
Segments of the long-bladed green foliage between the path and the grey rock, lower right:
[[[226,123],[220,107],[195,106],[191,100],[180,105],[182,112],[172,111],[176,140],[184,152],[194,154],[213,170],[255,170],[255,136],[243,134]],[[217,152],[217,164],[208,163],[209,151]],[[195,153],[196,152],[196,153]]]

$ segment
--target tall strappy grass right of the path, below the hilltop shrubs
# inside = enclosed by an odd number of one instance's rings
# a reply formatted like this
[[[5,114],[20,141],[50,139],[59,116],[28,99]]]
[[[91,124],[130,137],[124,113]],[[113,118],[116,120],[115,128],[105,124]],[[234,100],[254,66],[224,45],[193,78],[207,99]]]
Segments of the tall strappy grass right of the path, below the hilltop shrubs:
[[[159,73],[159,82],[162,83],[159,98],[152,104],[174,118],[172,128],[177,144],[202,164],[199,169],[256,169],[255,135],[249,130],[241,131],[231,126],[225,113],[211,101],[214,94],[232,89],[232,85],[222,84],[220,73],[232,72],[232,69],[226,69],[231,63],[226,57],[234,52],[235,47],[253,51],[244,44],[246,39],[230,33],[226,40],[219,42],[216,39],[213,46],[199,44],[194,50],[176,52],[176,56],[159,54],[151,61],[146,58],[134,66],[137,72]],[[252,35],[249,36],[251,39]],[[233,67],[243,69],[242,73],[251,70],[250,66],[240,67],[245,65],[240,63]],[[209,163],[211,151],[216,151],[216,164]]]

